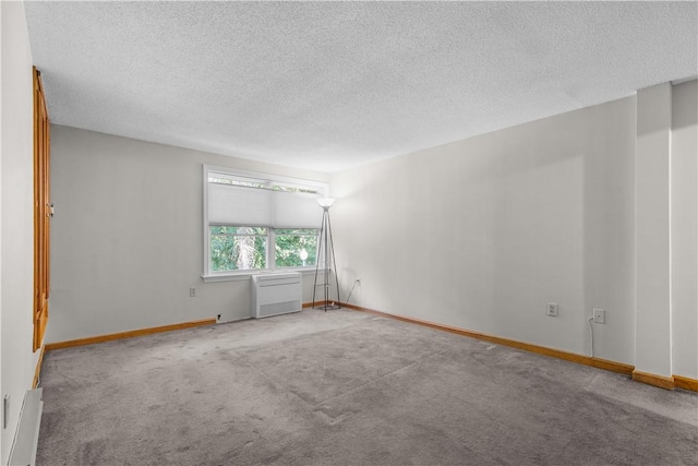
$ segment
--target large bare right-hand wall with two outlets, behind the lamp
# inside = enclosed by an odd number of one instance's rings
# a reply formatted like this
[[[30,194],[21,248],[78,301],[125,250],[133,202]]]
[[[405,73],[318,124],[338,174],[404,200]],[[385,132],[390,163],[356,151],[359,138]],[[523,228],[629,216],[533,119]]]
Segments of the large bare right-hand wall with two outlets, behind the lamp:
[[[633,363],[635,97],[336,174],[353,303]],[[559,304],[559,316],[545,304]]]

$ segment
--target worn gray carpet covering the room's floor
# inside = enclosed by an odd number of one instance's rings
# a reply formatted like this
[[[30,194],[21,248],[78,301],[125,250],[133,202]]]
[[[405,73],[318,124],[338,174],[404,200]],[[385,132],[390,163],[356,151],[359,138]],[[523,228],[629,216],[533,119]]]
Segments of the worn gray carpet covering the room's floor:
[[[37,464],[696,465],[698,394],[350,310],[53,350]]]

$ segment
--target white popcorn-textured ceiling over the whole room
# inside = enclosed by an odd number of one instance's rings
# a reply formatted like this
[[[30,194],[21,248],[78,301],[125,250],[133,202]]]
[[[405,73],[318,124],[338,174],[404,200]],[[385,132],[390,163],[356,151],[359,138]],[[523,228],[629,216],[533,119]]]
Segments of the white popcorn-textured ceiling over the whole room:
[[[698,2],[25,2],[51,121],[335,171],[698,74]]]

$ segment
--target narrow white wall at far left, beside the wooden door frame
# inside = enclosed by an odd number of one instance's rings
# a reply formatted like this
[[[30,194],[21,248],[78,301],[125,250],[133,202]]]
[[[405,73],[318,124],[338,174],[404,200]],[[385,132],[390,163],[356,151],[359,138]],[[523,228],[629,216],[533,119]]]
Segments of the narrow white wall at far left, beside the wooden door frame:
[[[34,289],[32,52],[22,2],[0,2],[1,21],[1,395],[10,395],[1,464],[10,455],[24,394],[32,389],[38,353],[32,353]]]

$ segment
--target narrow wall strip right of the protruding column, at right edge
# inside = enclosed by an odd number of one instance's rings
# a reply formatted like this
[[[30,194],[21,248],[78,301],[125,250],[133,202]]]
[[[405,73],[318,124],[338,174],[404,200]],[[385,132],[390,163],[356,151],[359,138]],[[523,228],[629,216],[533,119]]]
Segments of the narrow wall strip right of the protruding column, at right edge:
[[[698,379],[698,81],[672,88],[673,373]]]

